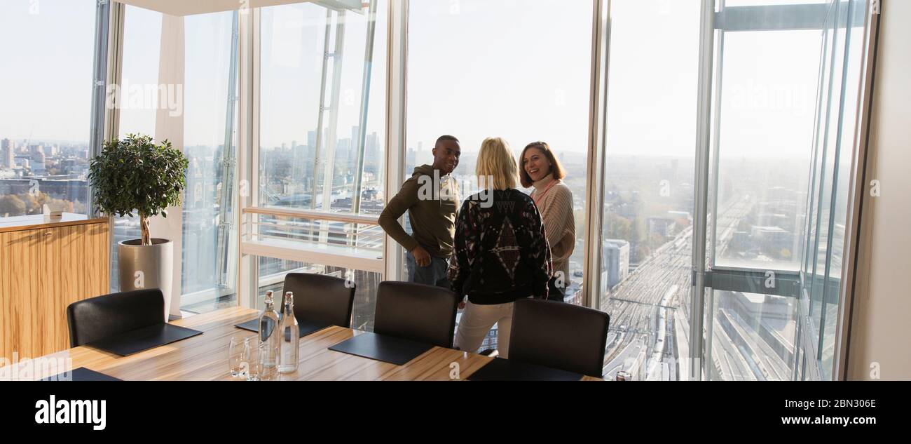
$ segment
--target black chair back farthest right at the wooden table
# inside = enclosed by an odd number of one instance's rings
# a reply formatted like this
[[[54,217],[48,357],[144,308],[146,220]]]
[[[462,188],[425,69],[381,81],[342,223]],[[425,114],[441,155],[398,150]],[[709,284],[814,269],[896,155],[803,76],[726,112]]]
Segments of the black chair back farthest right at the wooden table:
[[[608,314],[591,308],[519,299],[509,359],[601,377],[609,322]]]

